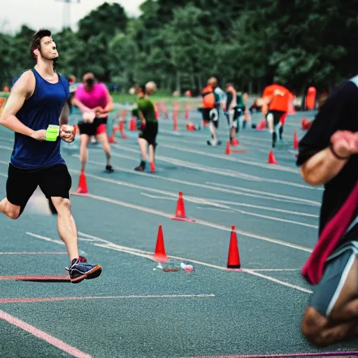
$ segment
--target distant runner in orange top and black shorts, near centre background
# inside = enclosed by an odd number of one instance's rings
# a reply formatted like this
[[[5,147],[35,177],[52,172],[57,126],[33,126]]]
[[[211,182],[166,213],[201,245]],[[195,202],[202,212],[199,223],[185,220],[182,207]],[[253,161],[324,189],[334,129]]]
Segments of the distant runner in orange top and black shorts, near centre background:
[[[201,91],[203,97],[203,122],[204,126],[209,125],[212,141],[207,141],[208,145],[220,145],[217,140],[216,129],[219,127],[220,106],[224,108],[226,99],[225,92],[217,86],[217,79],[211,77],[208,85]]]

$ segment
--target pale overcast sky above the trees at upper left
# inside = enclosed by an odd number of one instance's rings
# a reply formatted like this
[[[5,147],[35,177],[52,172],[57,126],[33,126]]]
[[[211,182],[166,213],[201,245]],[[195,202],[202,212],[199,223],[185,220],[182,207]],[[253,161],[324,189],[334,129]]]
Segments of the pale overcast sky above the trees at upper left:
[[[32,29],[45,27],[51,30],[62,28],[64,6],[71,8],[71,27],[76,30],[78,20],[90,13],[101,3],[120,3],[128,15],[140,14],[138,6],[144,0],[71,0],[71,5],[64,5],[61,0],[0,0],[0,32],[13,33],[27,24]]]

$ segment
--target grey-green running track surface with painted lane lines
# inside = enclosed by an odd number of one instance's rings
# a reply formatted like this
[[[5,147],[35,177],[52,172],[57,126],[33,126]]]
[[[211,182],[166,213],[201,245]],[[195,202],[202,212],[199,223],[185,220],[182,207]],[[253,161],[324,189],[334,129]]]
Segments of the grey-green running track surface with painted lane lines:
[[[115,173],[90,147],[90,196],[72,196],[79,245],[103,266],[97,280],[71,285],[64,245],[41,192],[17,221],[0,217],[0,357],[323,356],[353,352],[358,342],[317,349],[301,335],[312,287],[301,267],[317,240],[321,187],[295,166],[293,133],[307,113],[287,118],[285,143],[268,165],[267,131],[245,129],[239,150],[208,147],[206,129],[189,132],[180,115],[159,121],[157,173],[136,173],[136,132],[112,145]],[[312,117],[312,114],[310,115]],[[171,117],[171,116],[170,116]],[[193,109],[190,119],[200,115]],[[254,115],[253,122],[261,119]],[[71,117],[76,121],[76,115]],[[128,123],[127,126],[128,128]],[[222,141],[228,136],[220,122]],[[0,129],[0,182],[5,195],[13,134]],[[79,141],[62,145],[76,191]],[[192,222],[171,220],[178,192]],[[194,262],[194,273],[164,272],[152,260],[162,224],[169,267]],[[243,271],[227,271],[236,225]],[[53,282],[44,282],[52,278]],[[353,354],[351,355],[353,356]]]

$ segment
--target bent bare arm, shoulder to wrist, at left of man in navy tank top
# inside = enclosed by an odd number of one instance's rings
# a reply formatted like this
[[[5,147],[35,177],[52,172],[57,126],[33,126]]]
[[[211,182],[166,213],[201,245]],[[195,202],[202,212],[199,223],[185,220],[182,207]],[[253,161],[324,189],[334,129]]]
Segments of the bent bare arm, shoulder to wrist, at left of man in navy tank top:
[[[32,136],[34,131],[22,124],[16,114],[24,105],[24,101],[31,96],[35,89],[35,78],[31,71],[24,72],[13,86],[8,101],[0,117],[0,124],[25,136]]]

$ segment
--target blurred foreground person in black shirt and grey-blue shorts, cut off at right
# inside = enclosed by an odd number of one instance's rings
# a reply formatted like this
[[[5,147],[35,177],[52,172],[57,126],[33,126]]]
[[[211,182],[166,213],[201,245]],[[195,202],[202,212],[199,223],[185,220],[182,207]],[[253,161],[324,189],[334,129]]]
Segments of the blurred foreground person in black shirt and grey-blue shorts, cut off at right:
[[[297,165],[324,185],[320,238],[303,267],[315,285],[303,317],[310,343],[358,338],[358,76],[329,96],[299,143]]]

